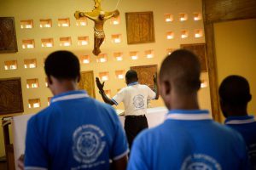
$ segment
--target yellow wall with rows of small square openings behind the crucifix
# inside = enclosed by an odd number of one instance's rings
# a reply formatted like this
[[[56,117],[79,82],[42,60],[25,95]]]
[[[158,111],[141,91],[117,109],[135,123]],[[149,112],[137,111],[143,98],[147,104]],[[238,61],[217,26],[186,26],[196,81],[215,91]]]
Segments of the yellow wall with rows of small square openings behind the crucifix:
[[[102,8],[107,11],[111,11],[115,8],[117,0],[104,0],[102,1]],[[205,42],[205,37],[195,38],[194,30],[203,29],[203,21],[193,20],[193,13],[202,11],[201,0],[121,0],[119,2],[120,11],[120,24],[119,26],[113,26],[109,21],[105,23],[106,41],[102,44],[102,53],[108,54],[107,63],[96,63],[95,56],[91,54],[93,47],[93,22],[88,20],[88,26],[75,26],[75,19],[73,13],[76,10],[91,11],[93,8],[93,0],[9,0],[2,1],[0,5],[0,16],[14,16],[15,27],[17,34],[18,53],[15,54],[0,54],[0,78],[6,77],[21,77],[22,95],[24,103],[24,113],[37,113],[47,106],[47,98],[52,96],[49,89],[45,87],[45,75],[44,75],[44,58],[52,51],[57,49],[72,50],[74,54],[78,56],[83,54],[89,54],[92,59],[89,65],[82,64],[82,71],[94,71],[94,76],[98,77],[99,72],[109,71],[110,80],[106,82],[105,89],[111,89],[112,96],[117,92],[117,89],[125,87],[125,80],[119,80],[115,78],[114,71],[129,70],[130,66],[135,65],[155,65],[160,67],[162,59],[166,56],[167,48],[179,48],[181,43],[201,43]],[[126,43],[126,26],[125,26],[125,12],[141,12],[141,11],[153,11],[154,12],[154,43],[143,43],[137,45],[127,45]],[[186,13],[189,19],[186,21],[179,21],[178,14]],[[164,20],[164,14],[173,14],[174,20],[172,23],[166,23]],[[70,27],[58,27],[58,18],[67,18],[71,20]],[[51,28],[40,28],[40,19],[52,19],[53,26]],[[20,29],[20,20],[33,20],[34,28],[32,29]],[[189,37],[185,39],[180,38],[180,32],[183,29],[189,31]],[[172,40],[166,40],[166,32],[174,31],[175,37]],[[119,44],[113,44],[111,42],[112,34],[121,34],[122,42]],[[89,45],[79,47],[77,37],[89,36]],[[42,48],[40,41],[41,38],[54,38],[53,48]],[[72,46],[61,48],[59,46],[60,37],[72,37]],[[35,48],[23,49],[21,48],[21,41],[26,38],[32,38],[35,40]],[[144,51],[148,49],[154,50],[154,58],[147,59],[144,55]],[[139,58],[137,60],[131,60],[129,52],[138,51]],[[122,52],[124,54],[123,61],[115,61],[113,59],[114,52]],[[23,66],[24,59],[37,58],[38,67],[35,69],[25,69]],[[18,69],[15,71],[4,71],[3,62],[5,60],[17,59]],[[202,79],[208,81],[208,74],[203,73]],[[38,78],[39,88],[26,88],[26,79]],[[211,110],[209,88],[202,88],[200,91],[200,103],[201,108]],[[28,99],[39,98],[41,100],[41,107],[38,109],[29,109]],[[101,99],[96,90],[96,99]],[[162,100],[152,101],[151,106],[164,105]],[[122,105],[119,106],[122,108]],[[0,116],[2,118],[2,116]],[[0,131],[0,156],[3,156],[3,132]]]

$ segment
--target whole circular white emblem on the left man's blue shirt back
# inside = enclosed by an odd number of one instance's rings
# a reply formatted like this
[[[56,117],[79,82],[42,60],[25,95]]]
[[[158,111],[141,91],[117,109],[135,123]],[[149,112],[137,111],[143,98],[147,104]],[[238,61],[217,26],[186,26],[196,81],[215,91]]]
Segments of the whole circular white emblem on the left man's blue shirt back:
[[[73,157],[76,161],[91,163],[102,154],[106,142],[104,133],[95,125],[83,125],[73,133]]]

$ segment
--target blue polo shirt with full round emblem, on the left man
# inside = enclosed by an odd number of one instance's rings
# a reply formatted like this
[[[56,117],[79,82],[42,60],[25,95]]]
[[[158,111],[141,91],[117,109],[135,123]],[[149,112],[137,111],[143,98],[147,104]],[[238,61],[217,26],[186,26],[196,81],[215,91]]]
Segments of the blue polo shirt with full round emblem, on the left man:
[[[84,91],[56,95],[32,116],[26,131],[26,169],[109,169],[128,152],[119,117]]]

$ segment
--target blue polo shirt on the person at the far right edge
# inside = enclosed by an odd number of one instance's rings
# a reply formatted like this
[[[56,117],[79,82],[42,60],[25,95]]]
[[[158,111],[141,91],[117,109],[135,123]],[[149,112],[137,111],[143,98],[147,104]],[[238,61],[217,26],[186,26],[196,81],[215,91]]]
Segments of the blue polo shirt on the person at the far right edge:
[[[247,143],[247,149],[254,169],[256,169],[256,121],[254,116],[229,116],[225,124],[237,132]]]

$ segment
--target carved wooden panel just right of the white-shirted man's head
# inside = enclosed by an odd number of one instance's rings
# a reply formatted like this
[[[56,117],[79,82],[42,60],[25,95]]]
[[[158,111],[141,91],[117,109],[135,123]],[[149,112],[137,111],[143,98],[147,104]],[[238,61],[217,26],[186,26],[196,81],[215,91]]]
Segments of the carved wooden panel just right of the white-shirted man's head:
[[[157,65],[131,66],[131,70],[137,71],[138,82],[146,84],[154,89],[154,74],[157,72]]]

